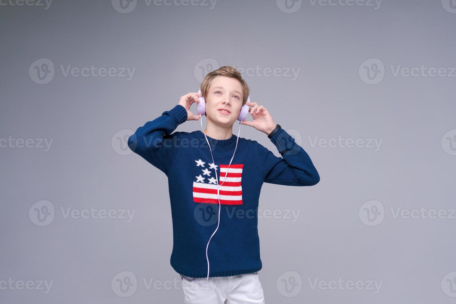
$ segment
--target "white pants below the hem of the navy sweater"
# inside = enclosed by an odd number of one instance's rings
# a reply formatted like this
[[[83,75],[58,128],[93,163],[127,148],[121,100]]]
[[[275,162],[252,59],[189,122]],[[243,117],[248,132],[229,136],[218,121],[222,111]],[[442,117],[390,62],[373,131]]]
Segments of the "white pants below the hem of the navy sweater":
[[[197,282],[204,283],[206,278]],[[181,288],[186,304],[264,304],[258,272],[209,278],[204,285],[182,278]]]

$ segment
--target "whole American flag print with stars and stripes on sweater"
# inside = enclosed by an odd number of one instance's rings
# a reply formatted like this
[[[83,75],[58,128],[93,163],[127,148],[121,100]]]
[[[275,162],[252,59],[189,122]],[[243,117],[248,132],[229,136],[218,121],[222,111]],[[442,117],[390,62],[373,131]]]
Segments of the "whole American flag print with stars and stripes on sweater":
[[[220,186],[221,205],[242,205],[242,170],[244,164],[215,165],[202,160],[195,160],[200,174],[193,180],[193,201],[196,203],[218,204],[217,179],[214,169],[217,170]],[[198,170],[197,170],[198,172]],[[223,184],[223,185],[222,185]]]

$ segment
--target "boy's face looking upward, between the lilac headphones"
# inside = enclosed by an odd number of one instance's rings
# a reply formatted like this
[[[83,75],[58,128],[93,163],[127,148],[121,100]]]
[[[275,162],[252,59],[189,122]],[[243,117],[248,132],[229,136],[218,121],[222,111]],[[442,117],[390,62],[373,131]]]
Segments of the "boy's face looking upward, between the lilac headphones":
[[[207,119],[214,124],[232,127],[238,119],[243,98],[242,86],[237,79],[225,76],[214,78],[205,98]],[[228,113],[223,113],[222,108]]]

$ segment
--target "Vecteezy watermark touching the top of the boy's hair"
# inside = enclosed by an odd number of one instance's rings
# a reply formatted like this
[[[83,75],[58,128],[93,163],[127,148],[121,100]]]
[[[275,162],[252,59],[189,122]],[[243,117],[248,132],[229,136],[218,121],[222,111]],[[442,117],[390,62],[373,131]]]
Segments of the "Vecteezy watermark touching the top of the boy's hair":
[[[217,70],[220,67],[217,60],[213,58],[204,58],[197,62],[193,67],[193,75],[198,82],[202,82],[208,72]],[[295,81],[301,67],[260,67],[258,64],[255,67],[236,67],[233,65],[242,77],[286,77],[291,81]]]

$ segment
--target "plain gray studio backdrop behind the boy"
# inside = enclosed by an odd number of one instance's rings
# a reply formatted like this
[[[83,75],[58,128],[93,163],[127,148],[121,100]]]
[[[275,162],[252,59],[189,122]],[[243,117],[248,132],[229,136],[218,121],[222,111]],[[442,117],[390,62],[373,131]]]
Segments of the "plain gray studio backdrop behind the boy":
[[[307,0],[294,3],[301,5],[295,12],[283,1],[176,3],[183,2],[139,0],[128,13],[115,9],[119,0],[0,6],[0,281],[35,282],[31,290],[0,284],[0,303],[183,302],[169,264],[166,175],[130,154],[125,134],[196,92],[202,76],[223,65],[259,67],[243,74],[251,101],[295,137],[321,176],[311,187],[263,185],[260,208],[300,212],[295,222],[259,219],[266,303],[454,303],[455,215],[413,219],[394,212],[424,207],[450,215],[455,208],[455,72],[404,77],[390,67],[451,72],[456,11],[449,1],[384,0],[375,9],[374,2]],[[46,84],[33,74],[42,58],[54,64]],[[363,65],[371,58],[384,64],[375,84],[362,72],[375,68],[372,60]],[[64,76],[61,65],[135,72],[130,80]],[[298,77],[287,77],[287,67],[300,69]],[[265,68],[278,72],[268,76]],[[196,129],[199,121],[176,130]],[[280,156],[263,133],[244,126],[240,136]],[[339,136],[364,144],[312,145],[315,137]],[[34,144],[5,144],[9,137]],[[52,139],[50,149],[37,139]],[[368,139],[383,139],[380,149],[366,146]],[[33,210],[43,200],[54,218],[41,227]],[[363,204],[373,200],[384,207],[383,220],[369,226]],[[61,211],[91,207],[135,215],[127,222],[65,218]],[[111,287],[124,271],[138,282],[129,297]],[[298,285],[284,291],[282,278]],[[312,289],[316,278],[383,283],[378,293]],[[178,283],[148,289],[143,279]],[[53,281],[48,293],[37,288],[40,280]]]

